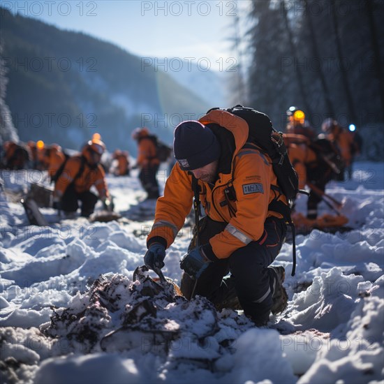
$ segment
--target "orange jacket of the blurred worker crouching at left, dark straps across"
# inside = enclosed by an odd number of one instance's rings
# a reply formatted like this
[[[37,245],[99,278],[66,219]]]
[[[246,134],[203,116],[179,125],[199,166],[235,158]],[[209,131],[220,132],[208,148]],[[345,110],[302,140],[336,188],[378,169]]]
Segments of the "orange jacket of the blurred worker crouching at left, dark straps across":
[[[98,164],[95,168],[91,168],[87,161],[84,161],[84,170],[80,177],[77,177],[82,167],[82,156],[75,155],[68,158],[63,172],[54,186],[54,195],[63,195],[68,186],[75,179],[75,191],[82,193],[89,191],[91,186],[95,186],[100,198],[108,197],[108,186],[105,182],[105,172],[103,167]]]

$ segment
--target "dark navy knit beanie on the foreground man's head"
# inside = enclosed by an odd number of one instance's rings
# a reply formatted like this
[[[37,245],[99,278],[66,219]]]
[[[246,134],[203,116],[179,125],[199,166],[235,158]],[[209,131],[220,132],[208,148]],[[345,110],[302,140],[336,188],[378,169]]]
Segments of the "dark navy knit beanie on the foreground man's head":
[[[195,170],[217,160],[221,154],[219,140],[199,121],[183,121],[175,129],[175,158],[182,170]]]

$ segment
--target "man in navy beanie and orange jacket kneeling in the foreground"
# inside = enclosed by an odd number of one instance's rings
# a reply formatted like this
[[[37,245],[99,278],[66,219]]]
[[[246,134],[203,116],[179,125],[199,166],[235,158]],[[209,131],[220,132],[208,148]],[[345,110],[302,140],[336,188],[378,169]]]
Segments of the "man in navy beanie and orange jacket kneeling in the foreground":
[[[286,198],[272,189],[277,182],[269,157],[256,147],[243,148],[248,133],[244,119],[222,110],[177,126],[177,163],[157,200],[144,260],[150,269],[164,266],[165,249],[190,212],[194,177],[206,216],[200,220],[199,242],[191,241],[181,263],[182,293],[188,299],[207,297],[217,309],[237,301],[262,326],[288,298],[283,267],[269,267],[286,235],[282,215],[269,210],[269,203],[286,204]]]

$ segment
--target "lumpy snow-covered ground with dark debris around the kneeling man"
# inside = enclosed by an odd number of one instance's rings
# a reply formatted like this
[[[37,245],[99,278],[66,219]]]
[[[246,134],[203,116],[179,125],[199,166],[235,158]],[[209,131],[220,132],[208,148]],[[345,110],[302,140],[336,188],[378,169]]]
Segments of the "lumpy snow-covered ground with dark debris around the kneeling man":
[[[298,235],[295,276],[292,246],[283,245],[274,264],[286,268],[289,303],[268,328],[145,276],[133,281],[152,225],[133,220],[146,212],[135,172],[108,177],[119,221],[54,223],[45,208],[52,224],[36,227],[17,193],[42,175],[3,170],[1,382],[383,383],[383,170],[356,163],[352,180],[327,185],[353,230]],[[163,187],[166,172],[158,178]],[[165,259],[176,282],[190,239],[186,227]]]

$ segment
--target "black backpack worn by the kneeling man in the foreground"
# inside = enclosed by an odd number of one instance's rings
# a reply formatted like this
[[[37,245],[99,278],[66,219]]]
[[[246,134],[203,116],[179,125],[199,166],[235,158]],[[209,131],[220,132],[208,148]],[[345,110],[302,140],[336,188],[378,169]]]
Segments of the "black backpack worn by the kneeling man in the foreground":
[[[272,168],[281,191],[288,200],[294,199],[299,193],[299,177],[288,158],[286,145],[283,142],[283,133],[277,132],[272,127],[269,117],[265,113],[242,105],[235,105],[235,107],[226,109],[212,108],[212,110],[215,109],[230,112],[248,123],[249,136],[246,141],[257,145],[268,154],[272,160]]]

